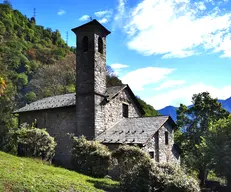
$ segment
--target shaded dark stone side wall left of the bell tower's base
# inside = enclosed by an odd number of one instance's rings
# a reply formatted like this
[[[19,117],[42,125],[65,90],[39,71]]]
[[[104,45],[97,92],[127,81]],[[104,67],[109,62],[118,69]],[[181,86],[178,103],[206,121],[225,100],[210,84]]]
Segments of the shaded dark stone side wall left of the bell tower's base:
[[[20,123],[31,124],[35,119],[37,120],[37,127],[46,128],[57,142],[54,163],[71,168],[70,149],[72,142],[67,133],[76,134],[75,107],[20,113]]]

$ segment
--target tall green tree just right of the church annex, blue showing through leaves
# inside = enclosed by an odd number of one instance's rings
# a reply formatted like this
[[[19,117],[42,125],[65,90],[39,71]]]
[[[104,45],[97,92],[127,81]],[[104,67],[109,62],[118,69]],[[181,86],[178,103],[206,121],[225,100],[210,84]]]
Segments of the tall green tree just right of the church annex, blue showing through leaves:
[[[182,149],[183,163],[189,169],[198,172],[198,177],[203,185],[210,160],[198,148],[202,142],[201,137],[208,133],[210,123],[228,117],[229,113],[208,92],[193,95],[192,104],[193,106],[190,108],[181,104],[177,110],[179,129],[176,133],[176,142]]]

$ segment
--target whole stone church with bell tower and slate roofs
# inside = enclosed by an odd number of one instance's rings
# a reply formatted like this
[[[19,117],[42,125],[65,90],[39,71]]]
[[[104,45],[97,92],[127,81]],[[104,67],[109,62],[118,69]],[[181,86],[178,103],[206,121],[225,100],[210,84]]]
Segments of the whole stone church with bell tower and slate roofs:
[[[72,29],[76,41],[76,93],[35,101],[14,113],[20,123],[46,128],[57,142],[54,161],[70,166],[68,133],[84,135],[109,148],[138,145],[157,162],[179,162],[174,144],[175,123],[169,116],[143,117],[128,85],[106,87],[106,36],[97,20]]]

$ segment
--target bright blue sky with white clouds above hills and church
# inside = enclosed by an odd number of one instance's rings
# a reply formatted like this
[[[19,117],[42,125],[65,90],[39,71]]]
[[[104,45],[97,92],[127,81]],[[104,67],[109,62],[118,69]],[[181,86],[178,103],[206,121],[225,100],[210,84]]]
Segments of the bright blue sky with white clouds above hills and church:
[[[156,109],[189,105],[194,93],[231,96],[229,0],[10,0],[38,25],[58,29],[69,46],[71,29],[99,20],[107,64],[136,95]]]

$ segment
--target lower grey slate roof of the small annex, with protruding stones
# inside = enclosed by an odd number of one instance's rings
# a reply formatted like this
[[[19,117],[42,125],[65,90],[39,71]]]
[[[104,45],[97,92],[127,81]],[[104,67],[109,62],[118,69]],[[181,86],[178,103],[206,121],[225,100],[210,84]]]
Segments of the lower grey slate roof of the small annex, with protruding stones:
[[[145,144],[168,120],[172,123],[169,116],[124,118],[96,140],[102,143]]]

